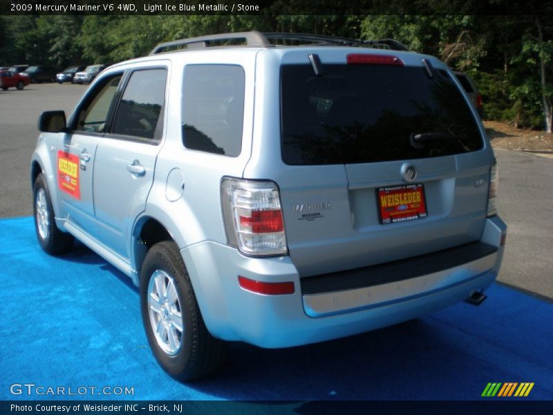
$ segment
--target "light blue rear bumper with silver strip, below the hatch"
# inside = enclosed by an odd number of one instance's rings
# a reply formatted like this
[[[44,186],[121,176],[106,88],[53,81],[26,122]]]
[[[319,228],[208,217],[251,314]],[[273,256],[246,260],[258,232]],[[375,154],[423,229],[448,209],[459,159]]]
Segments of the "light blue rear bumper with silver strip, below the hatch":
[[[496,249],[463,264],[412,278],[352,289],[305,289],[290,257],[250,258],[234,248],[203,242],[182,256],[205,324],[223,340],[260,347],[290,347],[389,326],[467,299],[494,282],[507,227],[487,219],[481,242]],[[290,295],[260,295],[238,286],[238,275],[263,282],[294,282]],[[302,293],[302,286],[304,291]]]

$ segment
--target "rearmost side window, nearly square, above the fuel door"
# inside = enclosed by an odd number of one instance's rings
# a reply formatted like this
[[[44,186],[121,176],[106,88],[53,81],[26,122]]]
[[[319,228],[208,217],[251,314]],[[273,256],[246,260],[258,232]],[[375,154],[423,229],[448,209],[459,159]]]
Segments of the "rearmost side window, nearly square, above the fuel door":
[[[188,65],[182,94],[182,142],[188,149],[238,156],[245,75],[236,65]]]

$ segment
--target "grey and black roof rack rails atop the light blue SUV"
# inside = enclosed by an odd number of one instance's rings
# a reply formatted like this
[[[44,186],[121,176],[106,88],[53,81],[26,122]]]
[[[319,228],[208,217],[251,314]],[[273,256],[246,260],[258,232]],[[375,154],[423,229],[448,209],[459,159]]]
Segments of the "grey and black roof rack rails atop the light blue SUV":
[[[251,32],[223,33],[221,35],[208,35],[200,37],[189,37],[188,39],[174,40],[158,44],[150,52],[150,55],[157,55],[168,51],[170,48],[187,46],[187,48],[206,48],[211,43],[228,42],[230,40],[241,39],[245,41],[245,46],[257,48],[274,47],[273,41],[305,42],[305,44],[316,44],[318,46],[365,46],[372,48],[389,48],[391,50],[408,50],[403,44],[394,39],[379,40],[359,40],[348,39],[346,37],[333,37],[325,35],[306,35],[303,33],[260,33],[252,30]]]

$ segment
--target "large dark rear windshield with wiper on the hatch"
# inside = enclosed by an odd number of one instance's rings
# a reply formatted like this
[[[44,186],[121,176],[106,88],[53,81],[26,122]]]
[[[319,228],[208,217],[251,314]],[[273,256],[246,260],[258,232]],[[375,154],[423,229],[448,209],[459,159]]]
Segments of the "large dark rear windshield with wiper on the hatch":
[[[448,73],[422,67],[281,68],[282,158],[288,165],[373,163],[482,148],[478,124]],[[413,138],[415,137],[415,138]]]

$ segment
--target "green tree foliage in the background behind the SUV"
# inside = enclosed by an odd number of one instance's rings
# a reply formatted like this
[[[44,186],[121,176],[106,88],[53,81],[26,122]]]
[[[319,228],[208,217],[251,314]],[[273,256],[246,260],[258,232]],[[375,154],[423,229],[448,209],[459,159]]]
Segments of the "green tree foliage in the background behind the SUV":
[[[330,12],[348,7],[321,1]],[[487,118],[543,126],[553,100],[553,21],[547,17],[478,15],[482,2],[476,0],[454,1],[456,10],[462,6],[471,15],[446,15],[449,5],[440,0],[411,5],[422,10],[431,3],[439,15],[297,15],[303,3],[272,1],[261,15],[0,17],[0,64],[111,64],[147,55],[160,42],[245,30],[393,38],[469,73]],[[375,4],[384,13],[409,13],[410,6],[397,1]]]

